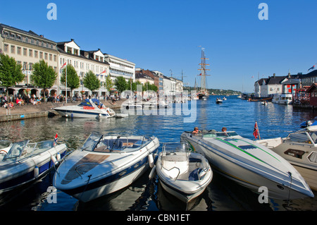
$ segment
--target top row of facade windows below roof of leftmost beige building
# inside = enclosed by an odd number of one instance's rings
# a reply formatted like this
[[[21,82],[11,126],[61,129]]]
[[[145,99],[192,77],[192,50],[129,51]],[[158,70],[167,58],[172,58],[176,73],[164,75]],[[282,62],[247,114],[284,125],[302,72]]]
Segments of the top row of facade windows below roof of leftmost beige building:
[[[4,52],[9,53],[9,45],[4,44]],[[48,54],[47,52],[43,51],[37,51],[34,49],[27,49],[25,47],[15,46],[11,44],[10,47],[10,53],[11,54],[18,54],[20,56],[28,56],[28,57],[34,57],[35,59],[45,59],[49,61],[57,61],[57,55],[56,54]]]

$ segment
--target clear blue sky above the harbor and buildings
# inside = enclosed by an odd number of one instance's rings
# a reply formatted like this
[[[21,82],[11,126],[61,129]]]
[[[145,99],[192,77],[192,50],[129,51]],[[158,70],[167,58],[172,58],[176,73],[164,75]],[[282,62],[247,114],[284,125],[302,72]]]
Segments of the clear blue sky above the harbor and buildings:
[[[262,2],[268,20],[258,18]],[[57,20],[46,18],[49,3]],[[316,8],[316,0],[3,1],[0,23],[55,42],[75,39],[175,78],[183,71],[191,86],[200,84],[204,47],[209,88],[252,92],[258,77],[306,73],[317,63]]]

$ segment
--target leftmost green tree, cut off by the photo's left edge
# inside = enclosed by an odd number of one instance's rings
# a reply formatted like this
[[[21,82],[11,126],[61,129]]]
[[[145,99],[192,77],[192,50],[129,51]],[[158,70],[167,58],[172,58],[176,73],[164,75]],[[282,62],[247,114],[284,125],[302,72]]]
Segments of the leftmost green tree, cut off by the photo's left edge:
[[[22,66],[18,65],[14,58],[0,54],[0,85],[6,87],[8,96],[8,87],[13,87],[24,80],[25,75],[21,71]]]

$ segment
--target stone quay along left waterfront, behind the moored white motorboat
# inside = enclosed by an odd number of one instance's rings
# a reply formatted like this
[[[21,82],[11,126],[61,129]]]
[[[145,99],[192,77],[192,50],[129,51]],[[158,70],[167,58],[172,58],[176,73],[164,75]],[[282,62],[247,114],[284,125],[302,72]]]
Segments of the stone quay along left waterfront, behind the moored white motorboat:
[[[110,107],[111,109],[120,109],[121,104],[124,100],[116,101],[113,104],[110,100],[100,100],[106,107]],[[18,106],[14,104],[15,109],[5,109],[4,107],[0,107],[0,122],[6,121],[16,121],[16,120],[24,120],[27,118],[37,118],[43,116],[56,116],[57,112],[54,110],[56,107],[62,107],[63,105],[77,105],[80,102],[65,102],[54,103],[54,102],[41,102],[39,105],[25,104],[23,106]]]

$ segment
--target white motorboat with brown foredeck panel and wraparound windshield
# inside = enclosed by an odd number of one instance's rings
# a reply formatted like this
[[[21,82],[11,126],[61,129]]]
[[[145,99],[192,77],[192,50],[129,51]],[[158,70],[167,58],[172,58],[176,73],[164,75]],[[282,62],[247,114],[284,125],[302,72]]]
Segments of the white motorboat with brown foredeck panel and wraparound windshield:
[[[149,154],[159,147],[156,137],[89,135],[54,174],[58,190],[81,202],[129,186],[149,168]]]

